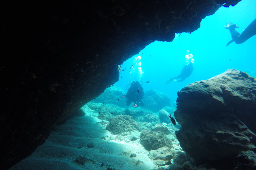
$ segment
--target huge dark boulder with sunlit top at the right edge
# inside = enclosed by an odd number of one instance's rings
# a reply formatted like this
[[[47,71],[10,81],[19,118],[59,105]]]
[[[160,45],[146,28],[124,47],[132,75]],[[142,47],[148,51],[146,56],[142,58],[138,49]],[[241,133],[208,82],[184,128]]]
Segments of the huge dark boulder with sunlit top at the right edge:
[[[256,80],[245,72],[227,70],[191,83],[178,92],[174,112],[182,125],[180,146],[197,164],[228,169],[241,151],[256,149],[255,111]]]

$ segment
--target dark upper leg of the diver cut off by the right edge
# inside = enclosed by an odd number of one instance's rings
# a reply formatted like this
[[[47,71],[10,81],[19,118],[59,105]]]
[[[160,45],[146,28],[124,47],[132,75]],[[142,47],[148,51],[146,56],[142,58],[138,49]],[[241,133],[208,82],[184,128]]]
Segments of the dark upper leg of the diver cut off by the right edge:
[[[237,39],[234,40],[236,44],[241,44],[254,35],[256,35],[256,19],[252,21],[247,28],[245,28],[245,30],[241,33],[241,35],[239,35]]]

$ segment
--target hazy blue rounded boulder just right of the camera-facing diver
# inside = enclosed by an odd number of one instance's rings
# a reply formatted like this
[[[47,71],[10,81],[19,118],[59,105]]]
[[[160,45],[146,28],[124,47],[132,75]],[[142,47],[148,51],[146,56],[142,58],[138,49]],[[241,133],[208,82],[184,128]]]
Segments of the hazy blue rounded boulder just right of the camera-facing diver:
[[[165,106],[171,106],[171,98],[167,94],[153,89],[145,91],[143,102],[145,108],[153,112],[158,112]]]

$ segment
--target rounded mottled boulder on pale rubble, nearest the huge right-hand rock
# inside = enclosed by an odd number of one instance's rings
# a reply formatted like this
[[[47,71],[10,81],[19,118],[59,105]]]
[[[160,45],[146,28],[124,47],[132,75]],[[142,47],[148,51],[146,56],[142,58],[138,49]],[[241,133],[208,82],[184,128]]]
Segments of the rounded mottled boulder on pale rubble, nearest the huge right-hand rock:
[[[153,132],[143,129],[140,133],[140,143],[147,150],[156,150],[164,146],[171,148],[172,142],[163,132]]]

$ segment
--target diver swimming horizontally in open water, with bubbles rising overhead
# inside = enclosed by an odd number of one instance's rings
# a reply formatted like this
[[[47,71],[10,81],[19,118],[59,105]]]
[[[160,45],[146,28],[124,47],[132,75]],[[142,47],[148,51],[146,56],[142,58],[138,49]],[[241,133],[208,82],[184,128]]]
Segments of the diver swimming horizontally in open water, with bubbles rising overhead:
[[[181,70],[180,75],[165,81],[166,85],[169,84],[170,82],[172,82],[173,80],[177,81],[177,82],[181,82],[181,81],[185,80],[186,78],[188,78],[191,75],[191,73],[193,72],[193,70],[194,70],[193,63],[195,60],[193,59],[193,55],[189,54],[189,50],[187,50],[187,53],[188,54],[185,56],[187,64]]]

